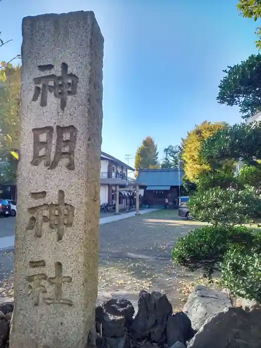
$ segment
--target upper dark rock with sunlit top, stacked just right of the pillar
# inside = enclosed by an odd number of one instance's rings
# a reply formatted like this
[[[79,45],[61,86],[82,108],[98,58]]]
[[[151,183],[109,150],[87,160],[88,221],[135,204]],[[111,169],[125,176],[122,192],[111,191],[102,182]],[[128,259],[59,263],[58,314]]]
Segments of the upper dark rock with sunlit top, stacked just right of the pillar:
[[[103,310],[105,313],[125,317],[127,321],[131,321],[134,314],[134,307],[131,301],[124,299],[112,298],[103,302]]]

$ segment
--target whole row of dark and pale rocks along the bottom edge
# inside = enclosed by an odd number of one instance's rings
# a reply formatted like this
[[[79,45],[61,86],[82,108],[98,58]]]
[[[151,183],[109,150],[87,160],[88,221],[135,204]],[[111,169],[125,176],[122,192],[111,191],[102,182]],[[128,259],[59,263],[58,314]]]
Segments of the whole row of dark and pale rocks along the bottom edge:
[[[243,306],[242,306],[243,307]],[[126,299],[96,307],[98,348],[260,348],[261,308],[232,307],[224,292],[196,286],[184,310],[173,314],[166,295],[142,290],[138,311]],[[0,303],[0,348],[8,347],[12,302]]]

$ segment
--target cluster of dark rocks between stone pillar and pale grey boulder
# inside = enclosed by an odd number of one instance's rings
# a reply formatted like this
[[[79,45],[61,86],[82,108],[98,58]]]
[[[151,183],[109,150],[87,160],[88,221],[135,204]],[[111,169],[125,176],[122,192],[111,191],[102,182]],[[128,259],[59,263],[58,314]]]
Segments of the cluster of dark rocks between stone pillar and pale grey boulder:
[[[128,300],[111,299],[96,308],[97,346],[124,348],[130,345],[152,347],[167,344],[177,347],[194,336],[191,321],[183,313],[173,314],[166,295],[142,290],[138,312]]]

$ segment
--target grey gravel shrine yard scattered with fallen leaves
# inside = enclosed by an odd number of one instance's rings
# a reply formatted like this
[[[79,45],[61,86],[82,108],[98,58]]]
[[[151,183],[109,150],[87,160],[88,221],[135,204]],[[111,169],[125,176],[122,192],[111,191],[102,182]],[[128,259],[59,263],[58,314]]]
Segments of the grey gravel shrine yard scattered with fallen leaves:
[[[202,226],[183,220],[177,211],[158,210],[100,226],[98,302],[128,298],[137,305],[141,289],[164,291],[174,310],[187,300],[186,284],[199,273],[189,274],[171,260],[177,239]],[[13,252],[0,250],[0,296],[13,294]]]

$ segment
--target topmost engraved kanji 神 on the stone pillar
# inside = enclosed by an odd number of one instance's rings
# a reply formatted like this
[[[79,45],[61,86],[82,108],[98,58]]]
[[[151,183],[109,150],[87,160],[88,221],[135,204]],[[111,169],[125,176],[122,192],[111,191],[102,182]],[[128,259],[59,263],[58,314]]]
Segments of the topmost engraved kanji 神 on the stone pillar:
[[[53,68],[54,66],[52,64],[38,66],[38,69],[42,72],[51,71]],[[61,99],[60,107],[62,110],[65,109],[67,96],[75,95],[77,92],[78,78],[74,74],[68,74],[68,66],[66,63],[62,63],[60,76],[54,74],[40,76],[34,78],[33,81],[35,85],[42,85],[42,87],[35,86],[32,98],[32,101],[36,101],[41,94],[41,106],[47,105],[48,90],[49,92],[53,92],[56,98]],[[50,82],[52,82],[53,85],[49,85]]]

